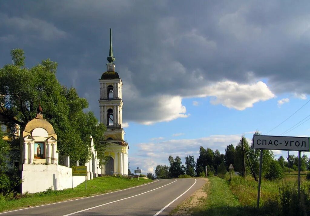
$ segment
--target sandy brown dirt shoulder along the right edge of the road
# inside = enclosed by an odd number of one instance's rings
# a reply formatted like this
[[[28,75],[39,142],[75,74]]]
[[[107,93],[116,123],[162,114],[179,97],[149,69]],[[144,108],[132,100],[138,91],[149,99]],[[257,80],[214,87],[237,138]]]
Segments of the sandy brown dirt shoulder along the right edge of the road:
[[[209,179],[204,178],[206,184],[210,184]],[[206,185],[205,184],[205,185]],[[195,191],[190,197],[185,199],[172,213],[171,216],[189,216],[192,215],[191,209],[199,206],[207,197],[207,193],[203,191],[203,187]]]

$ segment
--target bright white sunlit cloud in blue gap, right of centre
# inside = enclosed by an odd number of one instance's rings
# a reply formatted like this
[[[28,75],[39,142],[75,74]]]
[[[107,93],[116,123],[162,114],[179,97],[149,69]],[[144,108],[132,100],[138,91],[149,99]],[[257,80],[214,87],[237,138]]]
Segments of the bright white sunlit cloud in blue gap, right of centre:
[[[255,84],[238,84],[237,82],[217,82],[205,88],[205,96],[215,96],[211,104],[222,104],[228,108],[244,110],[253,107],[259,101],[274,98],[268,86],[259,81]]]

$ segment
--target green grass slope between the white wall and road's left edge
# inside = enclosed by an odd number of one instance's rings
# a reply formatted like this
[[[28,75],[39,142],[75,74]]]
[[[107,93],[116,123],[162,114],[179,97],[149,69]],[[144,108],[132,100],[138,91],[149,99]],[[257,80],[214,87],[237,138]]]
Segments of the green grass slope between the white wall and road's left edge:
[[[35,194],[27,194],[20,199],[15,199],[13,196],[4,197],[0,196],[0,212],[26,208],[29,205],[44,205],[53,202],[72,200],[117,190],[122,190],[129,187],[138,186],[144,183],[152,182],[150,179],[125,179],[112,176],[98,177],[93,180],[87,181],[87,189],[85,189],[85,182],[77,187],[53,191],[48,189],[45,192]]]

